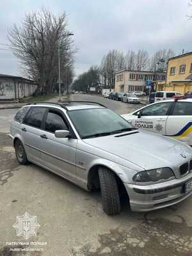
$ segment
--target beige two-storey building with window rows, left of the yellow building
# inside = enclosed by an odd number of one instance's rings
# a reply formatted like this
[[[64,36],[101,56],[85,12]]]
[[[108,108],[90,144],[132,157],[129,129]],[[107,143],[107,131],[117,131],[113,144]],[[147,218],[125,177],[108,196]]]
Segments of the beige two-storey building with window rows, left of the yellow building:
[[[164,81],[165,72],[121,70],[115,74],[115,92],[145,92],[146,82]]]

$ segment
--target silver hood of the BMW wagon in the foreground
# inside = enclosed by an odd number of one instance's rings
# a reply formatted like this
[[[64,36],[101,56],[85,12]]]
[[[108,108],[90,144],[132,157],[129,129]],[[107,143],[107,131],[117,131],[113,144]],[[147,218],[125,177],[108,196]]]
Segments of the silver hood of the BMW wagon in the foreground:
[[[180,164],[192,158],[192,150],[188,145],[152,132],[124,132],[89,138],[84,142],[134,163],[144,170],[161,167],[178,168]],[[111,158],[113,160],[113,156]],[[127,165],[129,166],[128,162]]]

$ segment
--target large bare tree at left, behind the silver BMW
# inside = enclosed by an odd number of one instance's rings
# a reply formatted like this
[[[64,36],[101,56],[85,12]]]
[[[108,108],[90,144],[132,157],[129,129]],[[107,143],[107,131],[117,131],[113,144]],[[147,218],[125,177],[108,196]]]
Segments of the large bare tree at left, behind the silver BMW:
[[[58,47],[61,70],[72,68],[73,41],[68,36],[67,15],[56,16],[42,8],[25,15],[21,26],[8,31],[12,51],[19,58],[22,74],[38,84],[36,94],[49,93],[58,80]]]

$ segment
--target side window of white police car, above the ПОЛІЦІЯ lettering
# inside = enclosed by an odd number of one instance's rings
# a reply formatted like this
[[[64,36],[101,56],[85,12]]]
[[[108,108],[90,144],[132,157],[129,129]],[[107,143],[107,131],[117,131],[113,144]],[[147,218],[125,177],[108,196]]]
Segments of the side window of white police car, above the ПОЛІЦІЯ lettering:
[[[142,116],[165,116],[172,102],[161,102],[141,110]]]

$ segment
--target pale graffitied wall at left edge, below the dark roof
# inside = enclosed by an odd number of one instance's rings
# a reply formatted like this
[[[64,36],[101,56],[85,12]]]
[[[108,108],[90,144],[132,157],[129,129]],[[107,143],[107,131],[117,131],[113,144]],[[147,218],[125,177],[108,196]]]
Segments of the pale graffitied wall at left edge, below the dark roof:
[[[26,82],[0,79],[0,100],[29,97],[35,92],[36,85]]]

